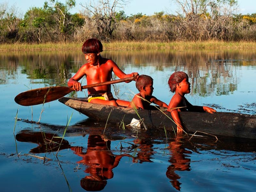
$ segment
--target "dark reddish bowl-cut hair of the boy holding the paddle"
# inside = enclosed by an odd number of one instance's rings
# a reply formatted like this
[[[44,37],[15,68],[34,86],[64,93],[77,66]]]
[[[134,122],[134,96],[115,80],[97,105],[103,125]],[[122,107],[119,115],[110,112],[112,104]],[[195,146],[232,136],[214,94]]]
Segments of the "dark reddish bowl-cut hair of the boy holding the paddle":
[[[102,51],[103,51],[103,46],[98,39],[87,39],[82,46],[82,52],[84,54],[99,53]]]

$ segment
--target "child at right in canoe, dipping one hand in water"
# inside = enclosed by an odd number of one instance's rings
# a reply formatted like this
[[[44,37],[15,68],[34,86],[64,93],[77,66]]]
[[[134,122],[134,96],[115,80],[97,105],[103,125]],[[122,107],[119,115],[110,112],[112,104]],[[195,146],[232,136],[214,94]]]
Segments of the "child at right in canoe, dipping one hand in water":
[[[168,110],[171,112],[174,122],[177,124],[177,132],[184,130],[180,115],[180,111],[195,111],[195,112],[208,112],[214,113],[216,110],[206,106],[195,106],[188,102],[185,94],[190,93],[190,83],[188,75],[182,71],[173,73],[168,81],[171,92],[175,92],[169,103]]]

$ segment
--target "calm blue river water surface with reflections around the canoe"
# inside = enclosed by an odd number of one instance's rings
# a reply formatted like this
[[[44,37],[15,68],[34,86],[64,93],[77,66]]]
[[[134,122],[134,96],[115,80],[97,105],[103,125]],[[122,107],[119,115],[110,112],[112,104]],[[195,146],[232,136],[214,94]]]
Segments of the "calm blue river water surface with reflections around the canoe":
[[[186,98],[192,104],[256,114],[256,50],[102,55],[126,73],[152,76],[153,95],[167,104],[173,95],[169,76],[181,70],[190,78]],[[205,135],[176,140],[164,130],[106,126],[58,101],[33,107],[14,102],[17,94],[29,89],[66,86],[84,62],[80,51],[0,52],[1,191],[255,190],[255,140],[218,137],[216,141]],[[112,92],[116,98],[131,100],[138,91],[131,82],[113,85]],[[86,90],[77,96],[87,96]]]

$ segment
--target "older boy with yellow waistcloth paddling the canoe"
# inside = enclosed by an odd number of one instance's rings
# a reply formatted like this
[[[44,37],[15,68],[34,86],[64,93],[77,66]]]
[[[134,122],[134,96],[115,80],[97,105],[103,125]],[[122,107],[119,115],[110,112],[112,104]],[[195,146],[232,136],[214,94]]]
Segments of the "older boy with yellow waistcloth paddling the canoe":
[[[73,87],[75,91],[82,91],[81,83],[78,81],[83,76],[86,76],[87,85],[110,81],[112,72],[120,79],[138,76],[138,73],[125,74],[113,60],[101,57],[100,52],[102,51],[103,46],[98,39],[88,39],[84,42],[82,52],[87,63],[69,79],[68,87]],[[129,101],[113,98],[110,85],[88,88],[88,102],[125,107],[129,105]]]

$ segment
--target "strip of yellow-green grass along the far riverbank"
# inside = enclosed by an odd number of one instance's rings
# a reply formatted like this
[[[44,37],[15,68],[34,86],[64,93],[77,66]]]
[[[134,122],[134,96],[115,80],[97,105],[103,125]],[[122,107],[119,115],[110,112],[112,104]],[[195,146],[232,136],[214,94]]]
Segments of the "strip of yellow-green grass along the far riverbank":
[[[78,43],[46,43],[46,44],[0,44],[0,52],[9,51],[49,51],[49,50],[80,50]],[[104,50],[145,50],[145,49],[255,49],[256,42],[111,42],[103,43]]]

